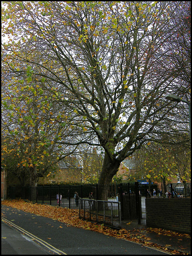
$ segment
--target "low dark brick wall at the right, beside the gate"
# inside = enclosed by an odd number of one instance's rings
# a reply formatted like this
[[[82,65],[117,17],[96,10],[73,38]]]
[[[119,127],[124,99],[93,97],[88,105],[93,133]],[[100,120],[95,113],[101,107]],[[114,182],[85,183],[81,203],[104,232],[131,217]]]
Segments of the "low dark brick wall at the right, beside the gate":
[[[146,198],[146,225],[190,234],[191,198]]]

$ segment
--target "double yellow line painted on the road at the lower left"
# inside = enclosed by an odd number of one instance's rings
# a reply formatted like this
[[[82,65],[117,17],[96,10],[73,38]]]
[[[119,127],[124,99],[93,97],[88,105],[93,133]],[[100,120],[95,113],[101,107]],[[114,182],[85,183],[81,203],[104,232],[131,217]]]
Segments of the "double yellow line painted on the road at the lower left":
[[[45,248],[47,248],[48,250],[51,250],[52,252],[55,252],[57,254],[66,254],[65,252],[62,252],[61,250],[55,248],[54,246],[52,246],[51,244],[48,244],[47,242],[45,242],[44,240],[41,240],[40,238],[38,238],[37,236],[34,236],[33,234],[27,232],[26,230],[24,230],[23,228],[20,228],[19,226],[17,226],[16,224],[14,224],[11,221],[6,220],[5,218],[2,217],[2,221],[5,222],[6,224],[13,226],[14,228],[16,228],[17,230],[21,231],[23,234],[29,236],[29,238],[31,238],[32,240],[37,241],[39,244],[45,246]]]

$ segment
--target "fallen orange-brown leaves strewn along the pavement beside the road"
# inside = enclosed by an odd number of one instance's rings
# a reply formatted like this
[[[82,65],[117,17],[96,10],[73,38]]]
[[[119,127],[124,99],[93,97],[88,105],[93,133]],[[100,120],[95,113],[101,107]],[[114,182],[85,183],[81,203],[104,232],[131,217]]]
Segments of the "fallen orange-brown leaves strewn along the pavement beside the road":
[[[153,247],[162,251],[170,252],[171,254],[185,254],[184,252],[178,252],[177,250],[171,250],[170,248],[163,247],[159,244],[149,242],[151,238],[147,237],[145,234],[142,234],[141,230],[136,230],[137,233],[132,232],[131,230],[127,231],[124,228],[121,230],[114,230],[112,228],[106,227],[103,224],[99,225],[97,223],[92,223],[84,221],[78,218],[78,209],[69,209],[59,206],[50,206],[46,204],[37,204],[33,202],[26,202],[25,200],[3,200],[3,205],[11,206],[17,208],[24,212],[30,212],[36,214],[37,216],[43,216],[63,222],[67,226],[74,226],[76,228],[83,228],[86,230],[92,230],[95,232],[103,233],[107,236],[114,236],[115,238],[125,239],[145,246]],[[135,230],[134,230],[135,231]],[[171,232],[167,230],[162,230],[161,228],[147,228],[146,232],[157,232],[157,234],[166,234],[170,236],[176,236],[178,233]],[[180,234],[180,236],[190,237],[188,234]]]

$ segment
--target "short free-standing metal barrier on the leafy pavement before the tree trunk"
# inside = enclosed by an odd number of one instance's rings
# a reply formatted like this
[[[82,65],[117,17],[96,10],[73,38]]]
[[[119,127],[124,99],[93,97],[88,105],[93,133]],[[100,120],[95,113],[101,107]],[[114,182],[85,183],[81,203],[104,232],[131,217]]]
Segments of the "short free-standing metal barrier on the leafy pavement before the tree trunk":
[[[121,229],[121,203],[117,201],[80,199],[79,218]]]

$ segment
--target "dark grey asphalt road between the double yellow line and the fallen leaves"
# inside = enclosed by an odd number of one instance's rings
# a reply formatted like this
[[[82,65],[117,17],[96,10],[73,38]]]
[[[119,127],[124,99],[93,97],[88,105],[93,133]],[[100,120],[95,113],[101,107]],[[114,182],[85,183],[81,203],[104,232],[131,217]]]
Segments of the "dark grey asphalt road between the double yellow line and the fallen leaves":
[[[161,255],[168,254],[137,244],[116,239],[91,230],[68,226],[57,220],[23,212],[10,206],[2,205],[3,218],[12,226],[20,228],[26,236],[34,239],[41,246],[57,248],[52,254],[132,254],[132,255]],[[12,228],[13,228],[12,227]],[[6,235],[6,234],[5,234]],[[50,245],[50,246],[49,246]],[[44,254],[44,253],[42,253]],[[62,254],[62,253],[61,253]]]

